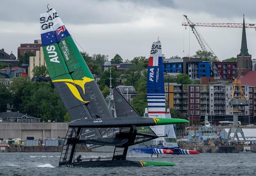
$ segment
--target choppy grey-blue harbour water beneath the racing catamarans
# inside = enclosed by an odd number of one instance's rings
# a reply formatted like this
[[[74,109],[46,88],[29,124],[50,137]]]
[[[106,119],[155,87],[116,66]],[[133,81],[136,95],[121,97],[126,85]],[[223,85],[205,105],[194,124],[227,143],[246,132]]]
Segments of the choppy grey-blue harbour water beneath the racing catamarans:
[[[93,155],[93,153],[92,153]],[[133,155],[133,156],[132,156]],[[256,175],[256,153],[201,153],[200,155],[159,155],[150,158],[147,154],[127,155],[128,160],[170,161],[173,167],[99,167],[55,168],[60,153],[0,153],[0,175],[139,175],[139,176],[246,176]]]

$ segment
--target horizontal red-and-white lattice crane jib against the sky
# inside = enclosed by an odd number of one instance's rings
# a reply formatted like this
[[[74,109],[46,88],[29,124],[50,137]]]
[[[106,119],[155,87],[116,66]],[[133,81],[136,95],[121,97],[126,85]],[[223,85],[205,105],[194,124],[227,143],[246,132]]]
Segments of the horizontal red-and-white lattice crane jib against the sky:
[[[195,26],[209,26],[209,27],[243,27],[243,23],[194,23]],[[189,26],[189,23],[182,22],[182,26]],[[255,28],[256,24],[245,24],[246,28]]]

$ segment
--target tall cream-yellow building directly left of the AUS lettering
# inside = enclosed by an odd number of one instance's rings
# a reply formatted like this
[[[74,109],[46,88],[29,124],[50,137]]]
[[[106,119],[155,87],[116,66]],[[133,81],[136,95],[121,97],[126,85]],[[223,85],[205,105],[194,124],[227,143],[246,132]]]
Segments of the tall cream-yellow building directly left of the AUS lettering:
[[[40,51],[36,51],[36,56],[29,57],[29,67],[28,67],[28,76],[33,77],[31,72],[35,66],[45,65],[43,47],[40,47]]]

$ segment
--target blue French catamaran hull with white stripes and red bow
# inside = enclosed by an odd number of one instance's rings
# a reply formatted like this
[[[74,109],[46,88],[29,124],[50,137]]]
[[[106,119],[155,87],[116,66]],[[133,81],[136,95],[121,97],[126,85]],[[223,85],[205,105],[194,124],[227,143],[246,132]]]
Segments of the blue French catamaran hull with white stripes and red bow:
[[[199,154],[199,152],[196,150],[183,150],[180,148],[168,148],[168,147],[138,147],[138,148],[132,148],[130,152],[148,153],[148,154],[173,154],[173,155]]]

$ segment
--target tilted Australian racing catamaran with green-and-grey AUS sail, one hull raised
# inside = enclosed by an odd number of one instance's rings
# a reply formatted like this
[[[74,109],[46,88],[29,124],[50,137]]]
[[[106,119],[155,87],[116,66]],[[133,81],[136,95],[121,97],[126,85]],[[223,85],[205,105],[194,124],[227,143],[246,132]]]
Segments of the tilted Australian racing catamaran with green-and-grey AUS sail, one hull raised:
[[[54,9],[40,15],[44,59],[52,82],[72,122],[63,144],[59,167],[172,166],[171,162],[126,160],[128,147],[159,136],[138,132],[142,126],[187,123],[183,119],[113,118],[106,101],[67,27]],[[78,150],[111,146],[98,156]],[[99,156],[100,155],[100,156]]]

